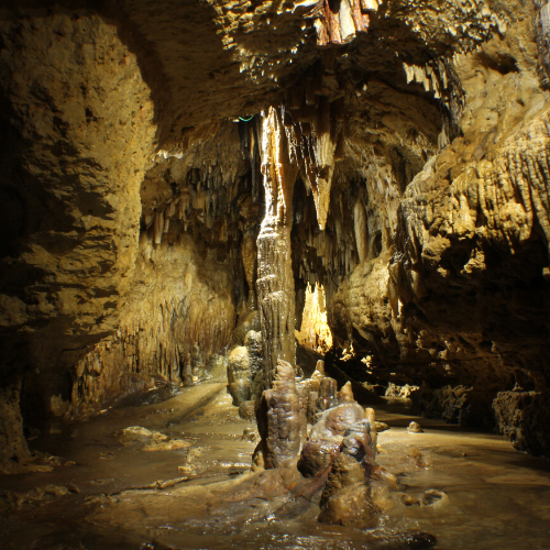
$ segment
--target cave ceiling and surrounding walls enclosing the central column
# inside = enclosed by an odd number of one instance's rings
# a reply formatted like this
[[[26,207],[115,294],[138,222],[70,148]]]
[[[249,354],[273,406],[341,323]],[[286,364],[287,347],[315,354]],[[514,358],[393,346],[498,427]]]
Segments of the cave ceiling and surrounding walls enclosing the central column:
[[[293,198],[297,324],[319,282],[338,343],[378,380],[473,388],[470,421],[486,426],[497,392],[548,403],[547,11],[3,2],[0,376],[14,418],[22,377],[29,419],[78,416],[138,378],[199,373],[257,330],[270,106],[312,147]],[[507,395],[497,420],[521,438]]]

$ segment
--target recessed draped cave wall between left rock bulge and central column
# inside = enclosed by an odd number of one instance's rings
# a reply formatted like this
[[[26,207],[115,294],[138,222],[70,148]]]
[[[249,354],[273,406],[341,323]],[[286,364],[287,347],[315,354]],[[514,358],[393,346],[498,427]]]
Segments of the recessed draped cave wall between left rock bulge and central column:
[[[254,233],[260,200],[242,131],[216,125],[185,154],[157,156],[147,170],[120,323],[70,371],[70,396],[53,397],[55,415],[89,416],[158,384],[177,391],[201,382],[239,339],[238,315],[250,312],[254,296],[253,280],[244,280],[245,235]]]

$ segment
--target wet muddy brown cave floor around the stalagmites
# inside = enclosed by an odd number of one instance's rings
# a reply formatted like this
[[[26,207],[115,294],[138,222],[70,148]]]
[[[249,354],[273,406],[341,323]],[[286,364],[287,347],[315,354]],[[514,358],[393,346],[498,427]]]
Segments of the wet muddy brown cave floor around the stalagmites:
[[[497,436],[411,417],[399,403],[376,416],[392,427],[378,435],[377,462],[399,491],[381,492],[385,509],[373,525],[321,526],[318,498],[300,497],[299,474],[250,472],[255,425],[238,417],[224,383],[209,383],[59,422],[31,441],[63,464],[0,477],[3,548],[397,550],[424,548],[410,536],[419,531],[438,549],[549,548],[548,461]],[[410,420],[425,432],[408,433]],[[170,440],[124,444],[117,433],[131,426]],[[442,493],[418,504],[429,490]]]

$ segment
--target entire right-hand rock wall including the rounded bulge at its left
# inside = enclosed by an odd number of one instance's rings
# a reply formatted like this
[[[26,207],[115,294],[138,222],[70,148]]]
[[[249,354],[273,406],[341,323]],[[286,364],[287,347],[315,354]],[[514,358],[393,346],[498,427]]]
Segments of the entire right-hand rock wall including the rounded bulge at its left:
[[[494,425],[498,389],[548,387],[549,96],[534,19],[517,24],[454,55],[461,135],[403,189],[391,245],[352,272],[329,309],[342,342],[405,381],[465,386],[461,399],[473,400],[449,415],[479,426]],[[437,395],[425,406],[447,410]],[[499,418],[506,433],[509,419]]]

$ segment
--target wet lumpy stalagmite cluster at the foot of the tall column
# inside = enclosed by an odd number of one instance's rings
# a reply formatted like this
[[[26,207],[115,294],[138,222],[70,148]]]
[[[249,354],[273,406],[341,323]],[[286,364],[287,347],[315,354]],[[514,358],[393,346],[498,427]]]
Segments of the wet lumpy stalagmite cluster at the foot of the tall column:
[[[257,410],[261,441],[255,469],[296,466],[320,484],[320,522],[366,522],[380,508],[371,496],[371,477],[395,477],[375,464],[373,409],[363,409],[349,384],[339,393],[324,376],[322,361],[311,378],[295,377],[293,365],[279,361],[272,388]],[[299,455],[299,459],[298,459]],[[319,488],[319,491],[320,491]]]

